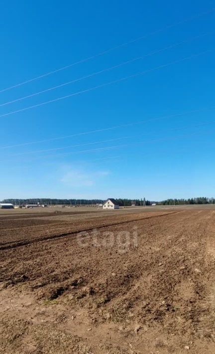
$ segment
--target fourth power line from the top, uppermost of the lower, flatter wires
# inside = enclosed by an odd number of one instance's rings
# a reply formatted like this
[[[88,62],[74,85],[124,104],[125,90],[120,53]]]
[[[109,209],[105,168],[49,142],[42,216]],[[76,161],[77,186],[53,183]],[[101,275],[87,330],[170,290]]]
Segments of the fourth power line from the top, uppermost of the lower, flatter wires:
[[[57,137],[57,138],[45,139],[45,140],[38,140],[38,141],[34,141],[34,142],[28,142],[28,143],[22,143],[22,144],[16,144],[16,145],[1,146],[0,149],[8,149],[8,148],[14,148],[14,147],[19,147],[19,146],[26,146],[26,145],[40,144],[40,143],[45,143],[45,142],[50,142],[50,141],[56,141],[56,140],[61,140],[61,139],[66,139],[66,138],[73,138],[73,137],[77,137],[77,136],[88,135],[88,134],[93,134],[93,133],[99,133],[99,132],[104,132],[104,131],[113,130],[113,129],[117,129],[117,128],[129,127],[129,126],[133,126],[133,125],[137,125],[137,124],[144,124],[144,123],[154,122],[154,121],[163,120],[163,119],[166,119],[166,118],[180,117],[180,116],[183,116],[185,114],[190,114],[190,113],[204,112],[204,111],[209,110],[209,109],[215,109],[215,106],[209,106],[209,107],[204,107],[204,108],[190,110],[190,111],[184,111],[184,112],[181,112],[181,113],[161,116],[161,117],[158,117],[158,118],[152,118],[152,119],[148,119],[148,120],[144,120],[144,121],[132,122],[132,123],[128,123],[128,124],[122,124],[122,125],[108,127],[108,128],[92,130],[92,131],[89,131],[89,132],[66,135],[66,136],[63,136],[63,137]]]

